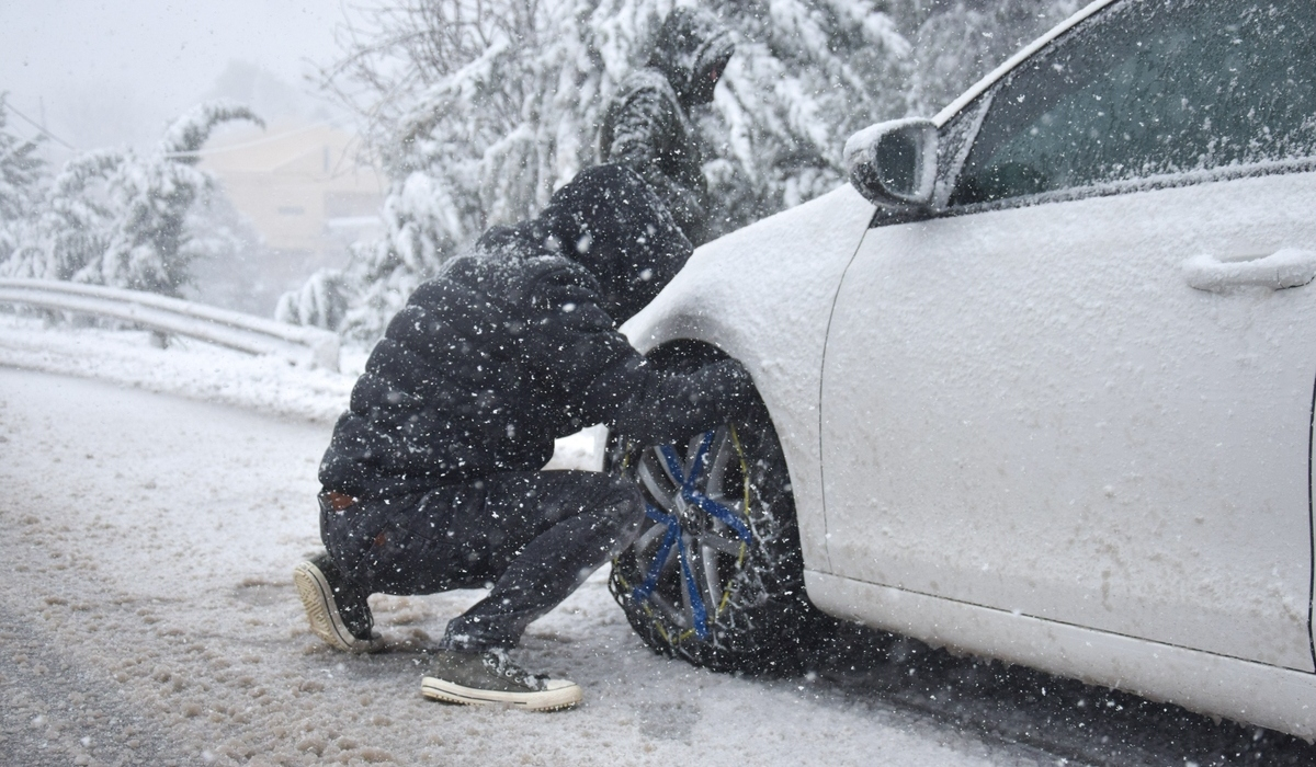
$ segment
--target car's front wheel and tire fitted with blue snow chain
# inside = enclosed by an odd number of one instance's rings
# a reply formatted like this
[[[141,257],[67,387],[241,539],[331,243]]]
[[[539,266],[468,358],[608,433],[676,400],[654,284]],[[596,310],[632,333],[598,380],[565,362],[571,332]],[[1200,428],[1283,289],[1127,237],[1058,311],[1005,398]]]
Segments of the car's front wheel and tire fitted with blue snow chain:
[[[667,368],[720,357],[707,347],[666,351],[651,359]],[[609,579],[640,638],[713,671],[797,672],[834,621],[804,595],[795,499],[762,403],[740,422],[676,445],[613,441],[608,463],[649,505]]]

